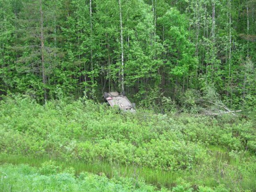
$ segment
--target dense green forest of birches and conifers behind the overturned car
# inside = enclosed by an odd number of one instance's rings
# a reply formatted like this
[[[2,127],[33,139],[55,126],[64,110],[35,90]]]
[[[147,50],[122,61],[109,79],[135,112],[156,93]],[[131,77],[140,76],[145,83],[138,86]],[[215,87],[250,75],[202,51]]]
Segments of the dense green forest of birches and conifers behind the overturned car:
[[[256,105],[255,0],[0,0],[0,42],[2,97]]]

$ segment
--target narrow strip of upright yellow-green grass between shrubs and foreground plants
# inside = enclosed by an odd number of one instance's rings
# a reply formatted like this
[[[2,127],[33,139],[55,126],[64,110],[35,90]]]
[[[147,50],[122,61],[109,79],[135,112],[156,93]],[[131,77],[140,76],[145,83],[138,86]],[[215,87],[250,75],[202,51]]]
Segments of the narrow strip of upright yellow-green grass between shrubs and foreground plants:
[[[182,178],[189,174],[183,171],[178,172],[168,172],[161,169],[151,169],[147,167],[139,167],[132,165],[120,165],[118,163],[107,163],[107,162],[97,162],[97,163],[85,163],[78,160],[65,161],[57,158],[49,158],[48,156],[41,157],[26,157],[17,155],[6,155],[0,154],[0,164],[11,163],[13,165],[19,164],[29,164],[30,166],[41,167],[42,163],[53,160],[56,165],[65,167],[73,167],[75,174],[79,175],[81,172],[90,172],[93,174],[104,173],[108,178],[113,178],[114,176],[122,177],[132,177],[134,179],[143,179],[146,183],[154,184],[157,187],[175,187],[177,184],[175,180],[177,178]]]

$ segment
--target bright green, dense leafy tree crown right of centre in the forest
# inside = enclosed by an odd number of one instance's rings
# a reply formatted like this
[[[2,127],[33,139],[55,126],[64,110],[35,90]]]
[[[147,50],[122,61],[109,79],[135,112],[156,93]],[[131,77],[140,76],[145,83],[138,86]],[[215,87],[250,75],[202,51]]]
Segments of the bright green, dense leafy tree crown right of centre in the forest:
[[[194,46],[188,40],[188,23],[185,15],[171,8],[164,16],[158,18],[160,25],[166,28],[165,42],[168,55],[172,55],[169,62],[172,64],[171,73],[178,77],[187,76],[197,65],[194,57]]]

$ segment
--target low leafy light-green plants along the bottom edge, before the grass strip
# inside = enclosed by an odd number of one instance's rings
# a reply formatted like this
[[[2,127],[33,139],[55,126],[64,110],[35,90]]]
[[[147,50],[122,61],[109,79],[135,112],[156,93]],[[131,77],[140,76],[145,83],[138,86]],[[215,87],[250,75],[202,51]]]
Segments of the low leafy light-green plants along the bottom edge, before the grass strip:
[[[57,166],[55,161],[42,163],[39,168],[27,164],[5,164],[0,166],[0,178],[0,190],[3,192],[228,192],[222,185],[211,189],[191,185],[183,179],[179,179],[177,185],[170,190],[165,187],[159,189],[132,177],[115,175],[109,179],[103,172],[80,172],[76,175],[73,167],[63,168]]]

